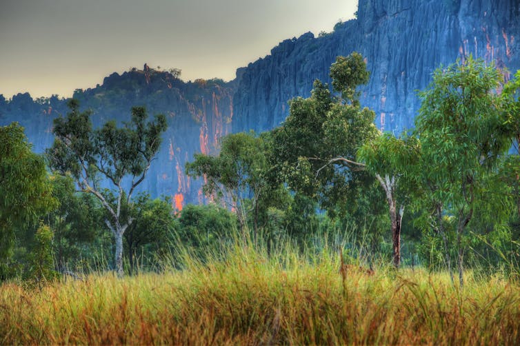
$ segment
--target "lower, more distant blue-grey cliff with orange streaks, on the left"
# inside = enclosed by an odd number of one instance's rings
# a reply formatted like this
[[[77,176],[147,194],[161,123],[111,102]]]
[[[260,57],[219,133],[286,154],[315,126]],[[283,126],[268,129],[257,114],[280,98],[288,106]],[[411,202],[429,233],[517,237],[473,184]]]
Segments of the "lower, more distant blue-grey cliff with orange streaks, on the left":
[[[137,190],[153,197],[170,196],[172,205],[180,210],[186,203],[206,201],[202,180],[192,181],[184,166],[197,152],[216,153],[219,137],[230,132],[234,85],[217,79],[185,83],[170,72],[145,65],[143,70],[111,74],[96,88],[76,90],[74,98],[81,110],[92,110],[94,126],[110,119],[130,120],[133,105],[144,105],[150,116],[166,115],[168,130],[157,160]],[[0,125],[21,123],[35,152],[52,145],[52,119],[67,112],[66,100],[57,97],[32,100],[29,94],[18,94],[10,101],[0,97]]]

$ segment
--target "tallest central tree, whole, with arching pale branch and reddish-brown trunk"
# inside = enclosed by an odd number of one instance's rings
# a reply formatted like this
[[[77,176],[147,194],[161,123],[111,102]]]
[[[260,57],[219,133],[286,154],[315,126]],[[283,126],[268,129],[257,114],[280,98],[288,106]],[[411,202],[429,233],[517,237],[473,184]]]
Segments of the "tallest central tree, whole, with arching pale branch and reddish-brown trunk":
[[[292,190],[317,199],[331,215],[338,205],[355,205],[359,192],[367,190],[375,177],[386,193],[394,265],[399,267],[406,201],[397,203],[397,194],[403,190],[398,185],[415,144],[412,139],[381,135],[374,125],[374,112],[361,108],[357,88],[368,82],[369,75],[359,53],[338,57],[330,77],[341,98],[315,81],[310,98],[290,101],[289,116],[274,130],[274,146],[283,181]],[[360,147],[364,149],[358,156]],[[400,159],[404,159],[402,165]]]

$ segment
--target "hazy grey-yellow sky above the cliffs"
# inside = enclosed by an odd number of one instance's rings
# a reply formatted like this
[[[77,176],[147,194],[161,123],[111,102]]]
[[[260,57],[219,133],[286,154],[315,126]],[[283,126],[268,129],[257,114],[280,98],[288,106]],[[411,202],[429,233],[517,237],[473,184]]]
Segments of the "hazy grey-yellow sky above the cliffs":
[[[1,0],[0,94],[72,96],[148,63],[234,79],[284,39],[332,31],[357,0]]]

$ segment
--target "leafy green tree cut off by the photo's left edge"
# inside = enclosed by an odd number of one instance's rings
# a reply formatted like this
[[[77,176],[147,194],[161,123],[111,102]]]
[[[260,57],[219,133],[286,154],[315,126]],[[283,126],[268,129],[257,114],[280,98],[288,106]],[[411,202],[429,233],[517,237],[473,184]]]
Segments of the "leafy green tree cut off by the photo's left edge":
[[[5,279],[14,230],[56,205],[45,161],[32,152],[18,123],[0,127],[0,196],[0,278]]]

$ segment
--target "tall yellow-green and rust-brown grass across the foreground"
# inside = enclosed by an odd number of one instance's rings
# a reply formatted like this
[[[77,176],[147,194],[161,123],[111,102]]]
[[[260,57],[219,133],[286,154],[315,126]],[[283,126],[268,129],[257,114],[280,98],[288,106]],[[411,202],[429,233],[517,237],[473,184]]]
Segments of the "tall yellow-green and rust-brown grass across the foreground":
[[[520,285],[446,273],[339,274],[339,256],[234,245],[182,270],[0,287],[1,344],[518,345]]]

